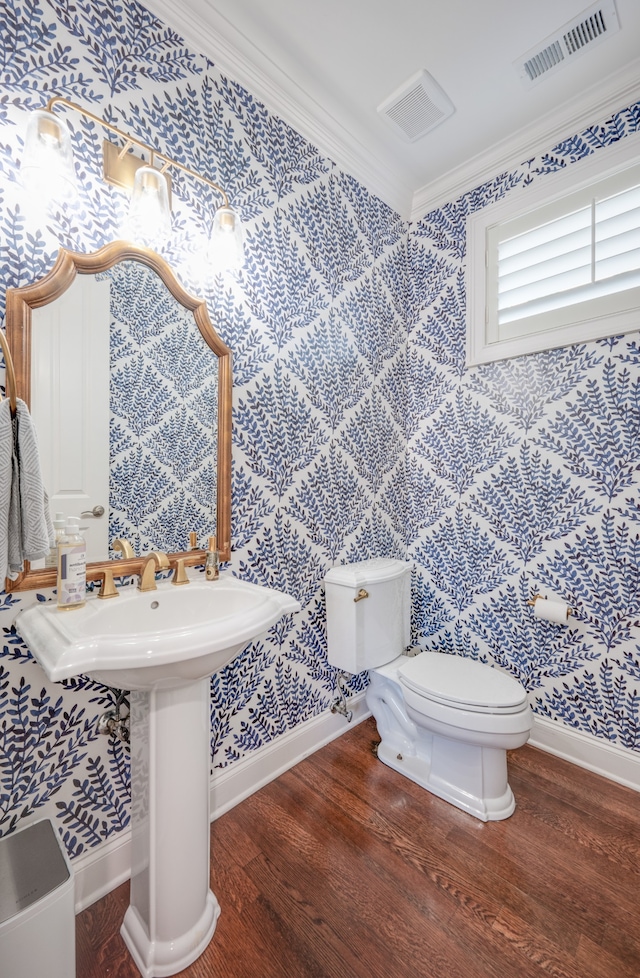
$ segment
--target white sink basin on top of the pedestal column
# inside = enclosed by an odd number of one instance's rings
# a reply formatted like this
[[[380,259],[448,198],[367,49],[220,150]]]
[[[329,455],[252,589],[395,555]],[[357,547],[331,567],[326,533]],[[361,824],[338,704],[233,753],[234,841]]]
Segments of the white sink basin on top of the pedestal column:
[[[167,689],[210,676],[299,609],[288,594],[225,575],[144,593],[122,588],[69,611],[38,604],[17,616],[16,629],[54,682],[85,675],[119,689]]]

